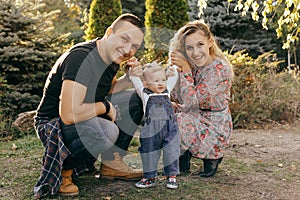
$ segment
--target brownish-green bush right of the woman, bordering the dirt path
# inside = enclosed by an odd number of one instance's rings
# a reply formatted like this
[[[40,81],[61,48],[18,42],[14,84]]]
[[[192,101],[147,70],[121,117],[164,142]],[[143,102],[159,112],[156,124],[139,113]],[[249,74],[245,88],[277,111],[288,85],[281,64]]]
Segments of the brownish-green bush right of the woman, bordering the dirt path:
[[[291,73],[277,72],[281,61],[276,54],[253,59],[240,51],[229,58],[235,72],[230,105],[234,127],[261,127],[300,116],[300,84]]]

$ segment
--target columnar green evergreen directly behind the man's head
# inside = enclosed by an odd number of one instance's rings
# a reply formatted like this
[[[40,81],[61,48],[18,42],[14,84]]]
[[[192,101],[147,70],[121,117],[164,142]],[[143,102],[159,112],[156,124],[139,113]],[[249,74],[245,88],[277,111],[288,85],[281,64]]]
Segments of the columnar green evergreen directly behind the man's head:
[[[85,39],[102,37],[111,23],[122,13],[120,0],[93,0]]]

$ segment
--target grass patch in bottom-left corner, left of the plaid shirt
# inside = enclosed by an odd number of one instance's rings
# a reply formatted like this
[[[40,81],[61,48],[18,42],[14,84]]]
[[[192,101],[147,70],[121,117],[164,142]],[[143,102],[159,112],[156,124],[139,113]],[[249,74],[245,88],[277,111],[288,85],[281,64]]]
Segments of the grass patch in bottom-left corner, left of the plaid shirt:
[[[13,143],[17,146],[12,150]],[[39,176],[43,147],[37,137],[0,143],[1,199],[30,199]]]

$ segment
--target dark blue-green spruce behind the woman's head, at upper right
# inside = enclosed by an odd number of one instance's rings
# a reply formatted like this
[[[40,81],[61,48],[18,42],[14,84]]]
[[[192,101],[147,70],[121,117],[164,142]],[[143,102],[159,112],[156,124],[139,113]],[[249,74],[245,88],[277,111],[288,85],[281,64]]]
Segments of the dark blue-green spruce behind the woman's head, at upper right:
[[[274,31],[263,30],[259,22],[251,16],[241,17],[239,11],[234,11],[235,3],[227,1],[209,0],[203,11],[203,18],[218,37],[223,50],[238,52],[246,50],[250,56],[274,51],[279,59],[285,58],[280,41],[276,39]]]

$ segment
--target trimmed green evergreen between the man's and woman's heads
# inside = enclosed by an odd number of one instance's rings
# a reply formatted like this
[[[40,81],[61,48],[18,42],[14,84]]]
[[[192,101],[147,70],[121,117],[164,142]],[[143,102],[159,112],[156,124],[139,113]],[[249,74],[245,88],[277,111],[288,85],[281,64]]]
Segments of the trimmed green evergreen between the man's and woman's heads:
[[[150,60],[167,60],[169,41],[189,19],[186,0],[146,0],[145,47]]]

